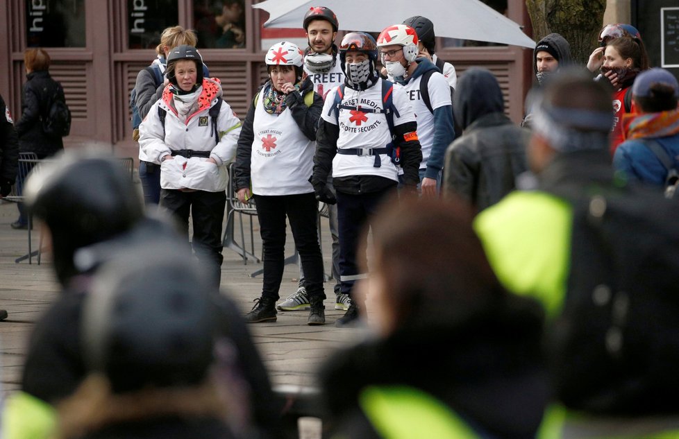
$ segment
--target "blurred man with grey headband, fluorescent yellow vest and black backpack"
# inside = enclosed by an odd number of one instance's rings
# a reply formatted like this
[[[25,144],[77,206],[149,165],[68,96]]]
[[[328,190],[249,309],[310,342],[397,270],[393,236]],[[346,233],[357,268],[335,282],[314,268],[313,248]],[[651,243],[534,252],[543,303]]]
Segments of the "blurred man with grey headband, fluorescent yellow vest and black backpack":
[[[537,104],[533,191],[475,228],[498,279],[537,298],[555,402],[544,438],[679,435],[679,206],[614,178],[609,90],[555,76]]]

